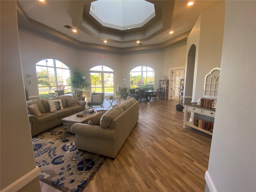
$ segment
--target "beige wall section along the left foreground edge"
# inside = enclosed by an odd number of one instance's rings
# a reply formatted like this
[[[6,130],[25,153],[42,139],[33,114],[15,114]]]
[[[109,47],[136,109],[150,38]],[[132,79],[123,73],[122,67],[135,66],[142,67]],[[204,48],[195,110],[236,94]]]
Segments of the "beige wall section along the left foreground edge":
[[[16,1],[1,4],[0,190],[40,191],[20,61]],[[30,174],[35,171],[35,174]],[[39,173],[38,173],[39,172]],[[28,179],[28,174],[33,180]],[[28,179],[28,180],[26,180]]]

